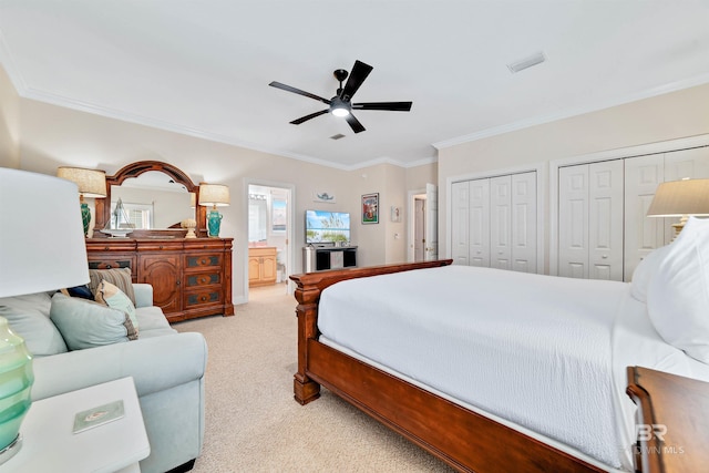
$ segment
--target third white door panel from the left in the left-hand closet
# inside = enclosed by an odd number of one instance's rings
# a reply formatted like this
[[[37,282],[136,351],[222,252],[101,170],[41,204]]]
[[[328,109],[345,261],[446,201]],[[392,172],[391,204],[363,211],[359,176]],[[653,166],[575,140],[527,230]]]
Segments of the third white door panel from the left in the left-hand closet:
[[[512,176],[490,179],[490,266],[512,269]]]

